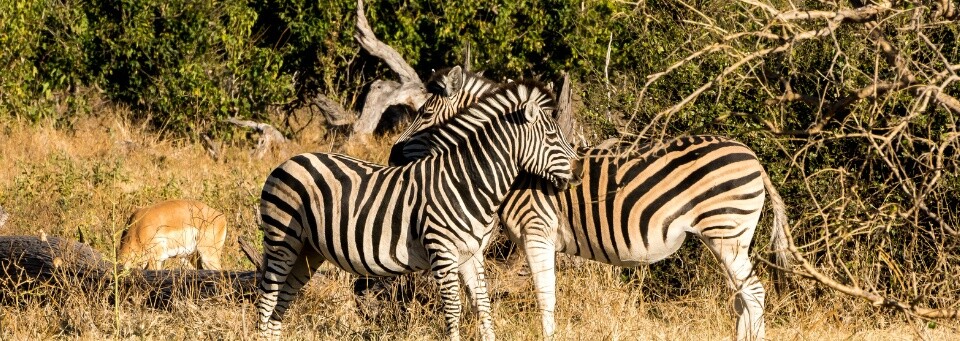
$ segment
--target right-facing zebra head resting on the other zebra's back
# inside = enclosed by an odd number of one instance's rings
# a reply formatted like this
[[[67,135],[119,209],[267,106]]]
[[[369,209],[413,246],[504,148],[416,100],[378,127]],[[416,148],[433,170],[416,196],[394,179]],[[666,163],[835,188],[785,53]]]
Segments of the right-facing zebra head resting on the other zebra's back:
[[[521,170],[540,176],[558,189],[566,190],[580,182],[581,164],[563,131],[557,125],[556,101],[542,85],[517,85],[517,92],[528,100],[517,114],[527,122],[519,134],[519,160]]]

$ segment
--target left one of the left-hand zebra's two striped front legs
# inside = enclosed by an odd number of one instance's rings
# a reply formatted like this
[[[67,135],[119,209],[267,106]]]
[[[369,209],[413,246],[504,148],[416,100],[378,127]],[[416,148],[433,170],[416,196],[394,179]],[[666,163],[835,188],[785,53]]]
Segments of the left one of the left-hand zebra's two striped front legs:
[[[460,341],[460,281],[459,271],[453,255],[446,257],[435,255],[431,258],[433,279],[440,288],[440,300],[443,302],[443,317],[446,320],[447,336],[451,341]]]

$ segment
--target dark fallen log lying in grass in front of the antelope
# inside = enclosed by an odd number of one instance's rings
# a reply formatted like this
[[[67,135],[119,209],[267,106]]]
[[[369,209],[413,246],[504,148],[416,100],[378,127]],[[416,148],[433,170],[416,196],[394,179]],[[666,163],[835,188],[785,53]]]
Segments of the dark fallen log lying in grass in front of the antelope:
[[[58,237],[0,236],[0,299],[139,291],[152,306],[174,299],[252,299],[255,271],[124,270],[89,245]],[[118,287],[115,287],[118,286]],[[45,289],[45,290],[36,290]],[[118,289],[118,290],[113,290]]]

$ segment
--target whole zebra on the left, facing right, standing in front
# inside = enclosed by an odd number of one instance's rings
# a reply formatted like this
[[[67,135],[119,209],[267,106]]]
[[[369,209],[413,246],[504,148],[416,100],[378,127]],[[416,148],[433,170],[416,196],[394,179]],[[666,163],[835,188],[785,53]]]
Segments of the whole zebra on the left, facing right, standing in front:
[[[520,172],[558,188],[576,182],[576,153],[547,117],[555,107],[542,85],[517,83],[418,134],[434,148],[405,166],[325,153],[277,166],[260,196],[260,336],[279,338],[290,301],[329,261],[363,276],[430,269],[452,340],[459,340],[459,275],[483,339],[494,339],[481,250],[497,208]]]

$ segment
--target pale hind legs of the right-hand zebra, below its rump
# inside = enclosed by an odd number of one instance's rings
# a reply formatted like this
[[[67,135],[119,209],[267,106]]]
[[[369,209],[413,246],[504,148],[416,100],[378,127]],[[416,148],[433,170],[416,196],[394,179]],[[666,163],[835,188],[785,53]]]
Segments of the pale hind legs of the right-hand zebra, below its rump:
[[[727,284],[736,291],[734,310],[737,312],[737,340],[763,340],[763,307],[766,291],[753,272],[749,248],[752,233],[746,238],[709,238],[703,240],[720,260],[727,273]]]

